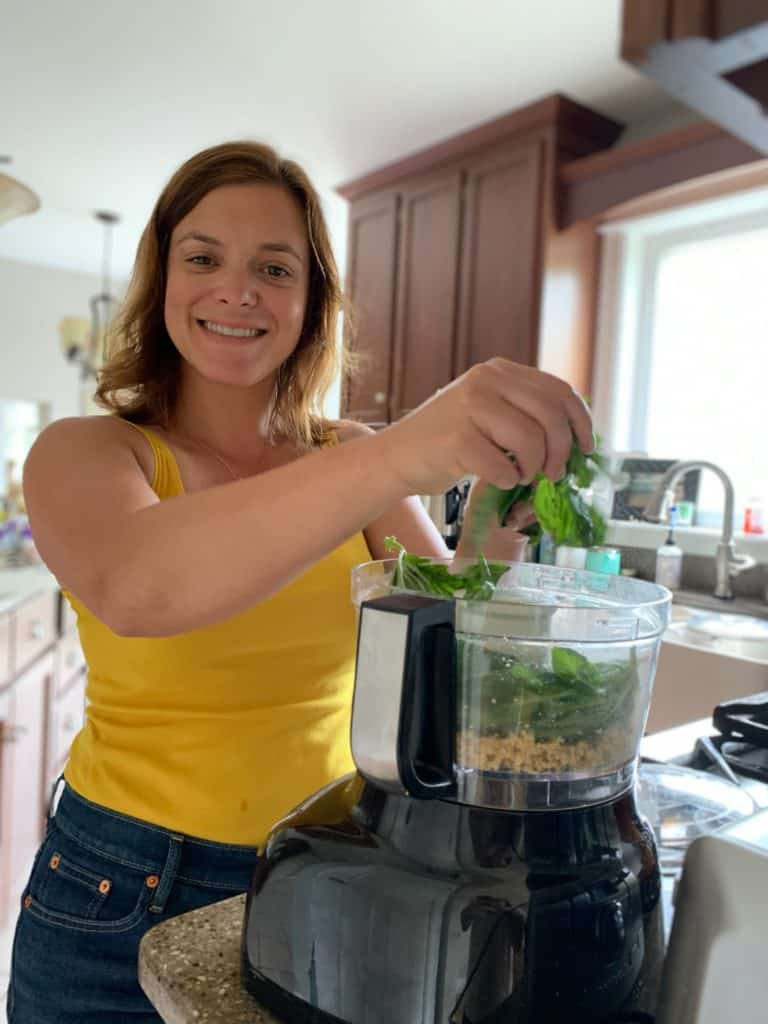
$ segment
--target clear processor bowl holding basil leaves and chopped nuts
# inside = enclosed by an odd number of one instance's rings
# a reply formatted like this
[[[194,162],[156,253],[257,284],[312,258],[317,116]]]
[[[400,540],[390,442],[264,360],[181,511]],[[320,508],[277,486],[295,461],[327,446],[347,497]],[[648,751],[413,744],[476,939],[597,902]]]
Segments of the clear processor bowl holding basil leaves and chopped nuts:
[[[357,608],[399,590],[396,565],[352,570]],[[565,808],[629,788],[671,600],[655,584],[528,562],[509,563],[489,600],[458,596],[458,799]]]

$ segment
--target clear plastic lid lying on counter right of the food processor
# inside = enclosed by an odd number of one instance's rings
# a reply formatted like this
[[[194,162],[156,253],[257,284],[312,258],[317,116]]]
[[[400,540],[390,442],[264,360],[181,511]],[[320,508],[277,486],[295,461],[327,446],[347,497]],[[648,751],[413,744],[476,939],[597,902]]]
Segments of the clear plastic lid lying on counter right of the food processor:
[[[699,836],[755,813],[755,802],[740,786],[678,765],[641,763],[637,800],[668,850],[685,850]]]

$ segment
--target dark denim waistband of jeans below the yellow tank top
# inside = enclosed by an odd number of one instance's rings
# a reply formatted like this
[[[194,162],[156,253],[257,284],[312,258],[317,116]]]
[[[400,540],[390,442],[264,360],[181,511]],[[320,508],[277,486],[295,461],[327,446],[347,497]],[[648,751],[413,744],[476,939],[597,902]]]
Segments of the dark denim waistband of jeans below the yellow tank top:
[[[63,782],[52,821],[70,839],[146,874],[173,874],[232,892],[248,889],[258,859],[255,846],[213,843],[171,831],[101,807]]]

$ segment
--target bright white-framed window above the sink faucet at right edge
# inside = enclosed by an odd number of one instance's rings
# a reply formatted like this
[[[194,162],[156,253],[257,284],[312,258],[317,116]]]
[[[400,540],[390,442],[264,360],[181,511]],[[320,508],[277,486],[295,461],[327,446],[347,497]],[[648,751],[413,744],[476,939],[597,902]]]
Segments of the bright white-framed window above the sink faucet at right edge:
[[[605,228],[595,419],[608,447],[706,459],[735,526],[768,501],[768,190]],[[696,522],[722,523],[702,473]]]

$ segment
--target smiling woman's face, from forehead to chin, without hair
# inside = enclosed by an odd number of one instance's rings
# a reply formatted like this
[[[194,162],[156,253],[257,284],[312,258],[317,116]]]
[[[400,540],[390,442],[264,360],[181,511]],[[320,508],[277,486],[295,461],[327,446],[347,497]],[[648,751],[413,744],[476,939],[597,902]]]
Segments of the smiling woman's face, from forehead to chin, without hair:
[[[207,380],[265,382],[301,334],[309,281],[304,215],[285,188],[214,188],[176,225],[168,251],[165,324]]]

